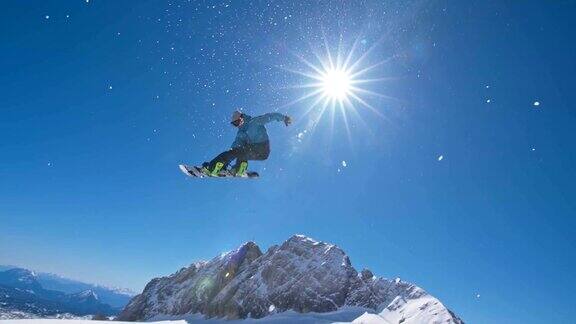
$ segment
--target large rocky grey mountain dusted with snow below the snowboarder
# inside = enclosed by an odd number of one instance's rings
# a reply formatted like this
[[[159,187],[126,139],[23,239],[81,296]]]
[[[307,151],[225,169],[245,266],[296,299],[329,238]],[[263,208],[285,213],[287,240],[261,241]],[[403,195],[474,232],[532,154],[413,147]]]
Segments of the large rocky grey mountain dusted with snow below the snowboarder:
[[[262,318],[286,311],[328,313],[342,307],[381,312],[373,317],[382,323],[462,323],[421,288],[399,279],[375,277],[369,270],[358,273],[340,248],[301,235],[266,253],[249,242],[209,262],[156,278],[118,319],[185,318],[191,314]]]

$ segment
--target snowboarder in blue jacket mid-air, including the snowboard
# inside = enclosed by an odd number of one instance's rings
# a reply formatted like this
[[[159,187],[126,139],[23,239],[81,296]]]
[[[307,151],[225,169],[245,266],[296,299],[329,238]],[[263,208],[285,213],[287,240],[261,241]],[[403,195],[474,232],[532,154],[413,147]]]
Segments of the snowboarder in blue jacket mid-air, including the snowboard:
[[[217,177],[224,171],[236,177],[246,176],[248,161],[266,160],[270,155],[270,140],[265,125],[271,121],[281,121],[288,126],[292,123],[292,118],[280,113],[252,117],[240,111],[234,111],[231,124],[238,128],[238,133],[232,143],[232,148],[220,153],[212,161],[204,162],[202,167],[190,168],[181,165],[180,169],[192,176]],[[233,160],[236,160],[236,163],[228,170],[228,165]],[[257,176],[257,173],[252,174]],[[248,176],[251,177],[250,174]]]

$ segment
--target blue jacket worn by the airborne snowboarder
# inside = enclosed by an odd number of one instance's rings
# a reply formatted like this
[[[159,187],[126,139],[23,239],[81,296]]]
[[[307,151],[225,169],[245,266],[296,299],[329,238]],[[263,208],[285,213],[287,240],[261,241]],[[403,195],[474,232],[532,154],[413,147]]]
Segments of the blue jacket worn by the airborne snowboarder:
[[[267,123],[275,121],[284,121],[285,116],[280,113],[269,113],[258,117],[243,115],[244,124],[238,128],[236,139],[232,143],[232,148],[237,148],[246,144],[256,144],[268,142],[268,133],[266,132]]]

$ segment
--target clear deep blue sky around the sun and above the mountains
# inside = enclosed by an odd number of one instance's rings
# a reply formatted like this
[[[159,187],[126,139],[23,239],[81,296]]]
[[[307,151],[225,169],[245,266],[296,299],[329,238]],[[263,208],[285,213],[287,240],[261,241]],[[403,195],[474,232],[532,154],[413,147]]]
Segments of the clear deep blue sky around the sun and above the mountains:
[[[573,320],[574,2],[0,6],[0,263],[139,290],[302,233],[470,323]],[[349,134],[285,106],[323,39],[386,60]],[[237,107],[295,118],[262,177],[186,178]]]

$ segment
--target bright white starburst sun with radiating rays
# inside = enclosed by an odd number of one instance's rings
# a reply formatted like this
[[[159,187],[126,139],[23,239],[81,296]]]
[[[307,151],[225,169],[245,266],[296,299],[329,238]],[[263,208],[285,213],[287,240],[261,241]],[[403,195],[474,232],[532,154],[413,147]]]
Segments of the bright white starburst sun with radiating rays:
[[[312,57],[307,58],[293,53],[301,63],[297,68],[281,66],[283,70],[304,77],[298,84],[288,87],[297,89],[300,96],[282,107],[296,104],[303,107],[301,120],[307,120],[309,130],[313,130],[325,115],[330,116],[332,127],[336,127],[334,117],[340,114],[350,137],[352,117],[363,124],[361,127],[366,124],[361,118],[362,109],[367,109],[378,117],[384,117],[381,109],[373,107],[370,103],[371,97],[394,100],[371,90],[374,88],[371,83],[393,79],[375,75],[379,70],[377,68],[387,64],[393,56],[376,63],[369,63],[371,61],[369,54],[378,44],[366,47],[365,41],[360,37],[353,42],[348,51],[343,48],[342,37],[336,46],[332,46],[336,47],[337,51],[330,50],[331,46],[326,39],[323,45],[324,51],[316,51],[311,45]],[[304,118],[307,116],[310,118]]]

